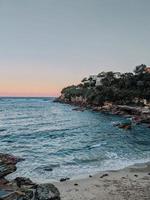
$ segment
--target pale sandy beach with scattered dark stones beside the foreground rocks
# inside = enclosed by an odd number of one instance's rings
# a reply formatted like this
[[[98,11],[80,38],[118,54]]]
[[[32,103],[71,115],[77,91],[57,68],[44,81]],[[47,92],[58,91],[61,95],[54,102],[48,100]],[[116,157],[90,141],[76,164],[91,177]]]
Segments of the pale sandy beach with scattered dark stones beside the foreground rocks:
[[[62,200],[148,200],[150,162],[53,184]]]

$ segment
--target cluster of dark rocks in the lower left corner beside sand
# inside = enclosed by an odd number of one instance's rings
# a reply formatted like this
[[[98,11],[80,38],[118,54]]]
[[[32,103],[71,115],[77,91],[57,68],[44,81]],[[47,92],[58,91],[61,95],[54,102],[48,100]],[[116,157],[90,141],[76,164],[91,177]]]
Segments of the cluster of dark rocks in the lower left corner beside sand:
[[[23,159],[0,153],[0,200],[60,200],[58,189],[51,183],[36,184],[29,178],[7,180]]]

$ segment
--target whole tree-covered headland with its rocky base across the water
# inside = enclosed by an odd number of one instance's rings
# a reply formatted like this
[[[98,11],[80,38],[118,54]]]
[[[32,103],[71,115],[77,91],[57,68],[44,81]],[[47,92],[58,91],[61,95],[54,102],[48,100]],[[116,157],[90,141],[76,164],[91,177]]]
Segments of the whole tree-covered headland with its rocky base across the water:
[[[134,117],[135,123],[150,126],[150,68],[138,65],[133,73],[100,72],[62,89],[55,101],[93,111]],[[131,128],[131,124],[129,127]]]

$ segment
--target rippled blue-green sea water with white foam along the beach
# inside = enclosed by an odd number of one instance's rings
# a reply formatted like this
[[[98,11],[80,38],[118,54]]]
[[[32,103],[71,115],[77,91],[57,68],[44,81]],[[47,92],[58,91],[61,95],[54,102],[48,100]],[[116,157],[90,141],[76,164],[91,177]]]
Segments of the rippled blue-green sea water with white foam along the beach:
[[[0,99],[0,152],[25,158],[16,176],[75,178],[150,161],[150,129],[118,129],[119,116],[54,103],[53,98]]]

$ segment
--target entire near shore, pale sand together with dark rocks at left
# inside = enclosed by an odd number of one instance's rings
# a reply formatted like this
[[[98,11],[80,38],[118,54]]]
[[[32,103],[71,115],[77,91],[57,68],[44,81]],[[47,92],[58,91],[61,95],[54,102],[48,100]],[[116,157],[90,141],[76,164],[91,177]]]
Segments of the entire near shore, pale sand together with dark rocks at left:
[[[149,200],[150,162],[121,170],[108,170],[88,178],[52,183],[34,183],[7,175],[17,170],[23,159],[0,154],[0,199],[3,200]]]

